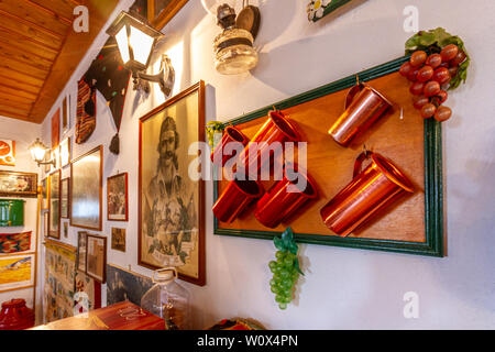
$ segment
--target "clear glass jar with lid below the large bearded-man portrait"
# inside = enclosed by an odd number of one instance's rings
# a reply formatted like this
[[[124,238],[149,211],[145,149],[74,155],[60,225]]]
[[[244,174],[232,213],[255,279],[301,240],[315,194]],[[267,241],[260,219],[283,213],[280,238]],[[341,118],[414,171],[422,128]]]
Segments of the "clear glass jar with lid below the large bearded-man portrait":
[[[165,320],[167,330],[189,328],[189,293],[176,283],[177,271],[166,267],[153,273],[153,283],[141,298],[141,308]]]

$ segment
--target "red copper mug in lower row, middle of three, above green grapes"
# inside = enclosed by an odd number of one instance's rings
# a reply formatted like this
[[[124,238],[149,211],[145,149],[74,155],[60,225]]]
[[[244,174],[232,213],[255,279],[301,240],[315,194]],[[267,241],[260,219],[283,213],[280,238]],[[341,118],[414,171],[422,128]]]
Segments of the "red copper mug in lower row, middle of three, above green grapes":
[[[305,180],[302,185],[298,184],[300,179]],[[276,228],[317,197],[316,184],[308,173],[297,164],[285,165],[284,178],[257,201],[254,216],[265,227]]]

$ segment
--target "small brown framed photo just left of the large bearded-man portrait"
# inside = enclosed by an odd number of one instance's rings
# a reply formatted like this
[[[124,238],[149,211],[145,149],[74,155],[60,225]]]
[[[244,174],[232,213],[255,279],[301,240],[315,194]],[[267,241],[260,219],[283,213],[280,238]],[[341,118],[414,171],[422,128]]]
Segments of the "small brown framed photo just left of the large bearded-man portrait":
[[[107,219],[128,221],[128,173],[107,178]]]

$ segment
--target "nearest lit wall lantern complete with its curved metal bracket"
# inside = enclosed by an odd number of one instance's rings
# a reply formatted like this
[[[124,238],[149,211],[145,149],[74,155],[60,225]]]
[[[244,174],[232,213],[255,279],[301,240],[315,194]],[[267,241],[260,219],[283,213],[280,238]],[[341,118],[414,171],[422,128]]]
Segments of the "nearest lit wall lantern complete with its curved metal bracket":
[[[138,19],[122,11],[107,30],[107,34],[116,37],[122,62],[132,73],[134,90],[143,89],[150,92],[148,81],[152,81],[160,85],[165,96],[170,95],[175,73],[166,55],[162,55],[158,74],[145,74],[155,44],[163,37],[161,32],[153,29],[144,19]]]

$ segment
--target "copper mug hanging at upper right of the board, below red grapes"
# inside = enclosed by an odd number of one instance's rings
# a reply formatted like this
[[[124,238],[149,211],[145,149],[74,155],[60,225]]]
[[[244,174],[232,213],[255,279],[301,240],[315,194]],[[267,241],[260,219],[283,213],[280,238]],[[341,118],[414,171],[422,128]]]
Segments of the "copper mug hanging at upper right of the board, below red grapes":
[[[348,146],[360,133],[366,131],[393,103],[371,86],[360,82],[345,98],[345,111],[328,133],[342,146]]]

